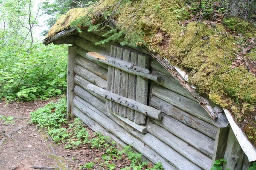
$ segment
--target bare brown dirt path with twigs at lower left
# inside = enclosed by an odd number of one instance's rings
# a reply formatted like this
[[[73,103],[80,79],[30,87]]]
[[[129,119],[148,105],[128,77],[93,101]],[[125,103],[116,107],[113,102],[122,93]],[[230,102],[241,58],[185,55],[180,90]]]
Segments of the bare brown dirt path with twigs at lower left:
[[[90,148],[64,149],[63,145],[55,144],[44,130],[29,122],[30,112],[56,101],[13,102],[8,105],[0,102],[0,115],[15,117],[15,123],[4,125],[3,121],[0,122],[0,141],[6,138],[0,146],[0,170],[34,170],[36,167],[33,166],[73,170],[102,155],[100,150]],[[87,130],[93,134],[89,127]],[[126,161],[120,163],[120,167],[125,164]],[[98,166],[93,170],[104,168]]]

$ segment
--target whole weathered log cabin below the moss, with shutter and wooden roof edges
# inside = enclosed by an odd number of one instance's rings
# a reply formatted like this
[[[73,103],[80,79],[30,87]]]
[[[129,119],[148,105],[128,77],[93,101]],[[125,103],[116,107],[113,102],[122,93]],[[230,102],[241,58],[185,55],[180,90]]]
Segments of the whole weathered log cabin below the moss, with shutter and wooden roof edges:
[[[96,45],[109,27],[67,26],[44,40],[71,44],[67,119],[79,117],[165,170],[210,170],[221,158],[224,170],[247,170],[256,161],[255,146],[229,109],[199,94],[185,71],[146,47],[120,45],[126,37]]]

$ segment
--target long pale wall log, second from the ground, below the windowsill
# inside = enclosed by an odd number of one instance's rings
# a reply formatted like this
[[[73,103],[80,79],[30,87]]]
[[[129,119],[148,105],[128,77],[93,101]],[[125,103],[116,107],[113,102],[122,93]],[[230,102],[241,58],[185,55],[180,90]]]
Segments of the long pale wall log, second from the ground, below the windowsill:
[[[134,147],[135,150],[142,153],[147,159],[149,159],[153,163],[156,164],[158,162],[161,162],[162,166],[166,170],[177,170],[177,168],[171,165],[168,161],[166,161],[166,159],[164,159],[157,152],[152,150],[149,146],[145,145],[139,139],[132,136],[130,133],[128,133],[126,130],[120,127],[116,122],[113,122],[111,119],[106,117],[103,113],[101,113],[100,111],[97,111],[97,109],[95,108],[93,110],[90,109],[92,108],[92,106],[89,103],[84,105],[78,100],[74,99],[74,104],[77,107],[75,109],[79,109],[84,114],[89,116],[91,119],[98,122],[102,127],[104,127],[105,129],[113,133],[115,136],[119,137],[119,139],[122,139],[122,141],[125,142],[126,144]],[[83,117],[84,114],[80,114],[79,115],[80,118]],[[86,119],[86,117],[84,119]]]

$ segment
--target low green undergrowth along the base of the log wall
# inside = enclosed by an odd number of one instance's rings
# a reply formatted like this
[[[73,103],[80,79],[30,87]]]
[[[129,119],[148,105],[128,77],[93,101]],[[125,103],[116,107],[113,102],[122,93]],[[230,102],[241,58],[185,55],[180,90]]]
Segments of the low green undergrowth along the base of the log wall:
[[[131,146],[124,147],[123,150],[116,148],[116,142],[108,142],[108,136],[102,136],[99,132],[91,134],[87,127],[82,125],[79,118],[67,122],[66,100],[60,99],[58,103],[49,103],[37,111],[31,112],[31,122],[38,127],[47,129],[49,136],[56,144],[63,144],[66,149],[84,148],[89,146],[91,150],[102,150],[104,154],[87,162],[79,169],[90,170],[96,166],[114,170],[118,166],[115,162],[129,160],[129,165],[121,170],[163,170],[161,163],[154,166],[142,160],[142,154],[136,153]]]

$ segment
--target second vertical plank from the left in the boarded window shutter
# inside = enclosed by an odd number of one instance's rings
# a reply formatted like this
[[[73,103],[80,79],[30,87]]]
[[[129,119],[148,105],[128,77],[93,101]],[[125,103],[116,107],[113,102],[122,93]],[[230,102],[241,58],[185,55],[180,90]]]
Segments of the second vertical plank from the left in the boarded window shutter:
[[[120,59],[122,60],[122,53],[123,53],[123,49],[117,47],[116,48],[116,59]],[[113,74],[114,76],[114,94],[118,94],[120,96],[121,94],[121,83],[122,83],[122,71],[119,69],[115,69],[115,74]],[[113,102],[113,112],[116,114],[119,114],[119,109],[120,109],[120,105],[116,102]]]

